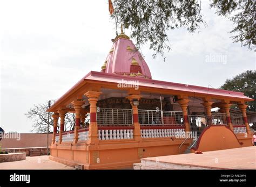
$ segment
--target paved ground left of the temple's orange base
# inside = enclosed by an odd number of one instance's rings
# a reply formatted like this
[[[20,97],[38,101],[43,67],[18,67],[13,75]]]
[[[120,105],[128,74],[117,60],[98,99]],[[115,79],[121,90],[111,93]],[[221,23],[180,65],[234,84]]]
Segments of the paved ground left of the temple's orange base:
[[[75,169],[49,160],[49,156],[26,156],[26,160],[0,163],[0,169]]]

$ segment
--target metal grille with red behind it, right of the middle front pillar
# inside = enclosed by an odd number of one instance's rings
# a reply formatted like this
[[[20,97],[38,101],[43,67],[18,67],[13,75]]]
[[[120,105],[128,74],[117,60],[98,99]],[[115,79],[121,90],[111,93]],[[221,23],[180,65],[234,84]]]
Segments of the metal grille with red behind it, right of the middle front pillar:
[[[140,125],[182,125],[183,112],[138,110]]]

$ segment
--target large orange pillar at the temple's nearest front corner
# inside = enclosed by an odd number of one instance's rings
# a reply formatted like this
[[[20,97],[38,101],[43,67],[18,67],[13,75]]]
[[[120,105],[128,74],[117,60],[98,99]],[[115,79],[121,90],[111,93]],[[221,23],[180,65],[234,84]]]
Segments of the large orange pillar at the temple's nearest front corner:
[[[97,113],[97,101],[98,98],[102,94],[100,91],[87,91],[85,95],[88,97],[90,103],[90,125],[89,125],[89,138],[87,143],[89,144],[97,144],[99,142],[98,139],[98,124],[96,121],[96,113]]]

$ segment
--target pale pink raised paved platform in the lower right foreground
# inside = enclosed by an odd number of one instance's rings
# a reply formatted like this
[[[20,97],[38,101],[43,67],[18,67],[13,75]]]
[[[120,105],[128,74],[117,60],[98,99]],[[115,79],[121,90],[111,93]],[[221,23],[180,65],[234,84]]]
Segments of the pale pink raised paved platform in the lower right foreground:
[[[256,146],[142,159],[140,169],[256,169]],[[134,169],[137,169],[134,166]]]

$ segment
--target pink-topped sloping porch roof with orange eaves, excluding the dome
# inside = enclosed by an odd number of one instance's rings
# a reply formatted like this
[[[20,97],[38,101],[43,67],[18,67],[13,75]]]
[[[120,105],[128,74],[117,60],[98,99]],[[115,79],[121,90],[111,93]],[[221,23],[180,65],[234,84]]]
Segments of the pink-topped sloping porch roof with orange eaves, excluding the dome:
[[[191,96],[210,96],[213,98],[223,98],[230,100],[245,100],[251,101],[254,100],[250,97],[247,97],[242,92],[229,91],[229,90],[220,90],[214,88],[199,87],[196,85],[186,85],[180,83],[150,80],[142,77],[131,77],[123,75],[108,74],[98,71],[90,71],[89,74],[85,75],[79,82],[77,82],[69,91],[67,91],[62,97],[60,97],[55,104],[53,104],[50,109],[47,111],[55,111],[56,107],[64,102],[69,96],[72,96],[76,91],[84,89],[86,83],[105,83],[106,85],[118,84],[121,79],[126,81],[138,81],[140,89],[152,88],[159,93],[161,92],[174,92],[174,93],[183,93]],[[152,90],[153,91],[153,90]]]

